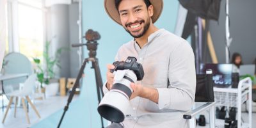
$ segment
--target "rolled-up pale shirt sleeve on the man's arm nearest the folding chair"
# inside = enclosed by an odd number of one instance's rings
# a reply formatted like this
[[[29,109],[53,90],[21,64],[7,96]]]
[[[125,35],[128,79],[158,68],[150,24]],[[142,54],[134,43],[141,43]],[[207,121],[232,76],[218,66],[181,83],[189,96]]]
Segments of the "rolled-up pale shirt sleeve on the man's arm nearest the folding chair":
[[[195,56],[187,42],[171,53],[168,80],[168,88],[157,88],[159,109],[191,109],[195,101]]]

